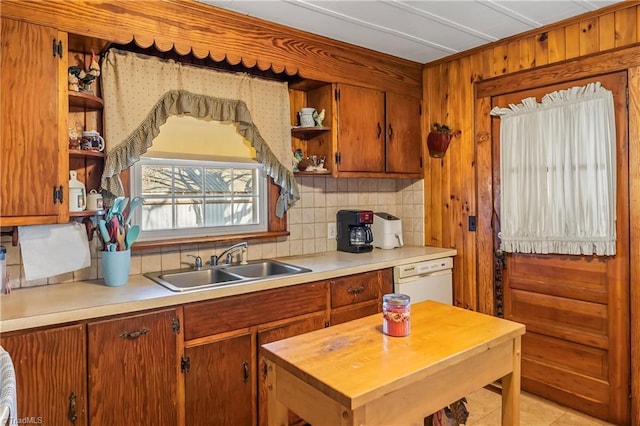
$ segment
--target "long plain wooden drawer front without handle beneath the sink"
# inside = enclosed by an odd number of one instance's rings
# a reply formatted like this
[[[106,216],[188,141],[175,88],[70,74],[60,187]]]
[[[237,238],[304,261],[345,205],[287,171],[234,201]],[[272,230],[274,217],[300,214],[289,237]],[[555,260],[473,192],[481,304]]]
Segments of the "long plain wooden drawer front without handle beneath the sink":
[[[327,290],[316,282],[185,306],[185,340],[325,310]]]

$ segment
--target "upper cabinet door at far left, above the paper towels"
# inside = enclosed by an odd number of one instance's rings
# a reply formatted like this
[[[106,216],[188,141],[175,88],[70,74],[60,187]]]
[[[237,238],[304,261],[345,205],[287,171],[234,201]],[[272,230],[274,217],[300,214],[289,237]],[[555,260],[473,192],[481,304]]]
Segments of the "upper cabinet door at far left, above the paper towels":
[[[3,226],[67,219],[66,34],[2,18],[0,96],[0,216]],[[61,57],[62,56],[62,57]],[[54,202],[54,187],[63,202]]]

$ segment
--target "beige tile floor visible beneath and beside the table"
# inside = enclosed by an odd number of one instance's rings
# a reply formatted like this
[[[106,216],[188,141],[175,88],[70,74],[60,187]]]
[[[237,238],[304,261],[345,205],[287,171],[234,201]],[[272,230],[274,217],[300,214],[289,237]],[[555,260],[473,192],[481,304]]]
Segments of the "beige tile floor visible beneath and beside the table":
[[[468,426],[500,424],[500,394],[483,388],[467,396]],[[603,426],[611,425],[586,414],[523,392],[520,397],[521,426]]]

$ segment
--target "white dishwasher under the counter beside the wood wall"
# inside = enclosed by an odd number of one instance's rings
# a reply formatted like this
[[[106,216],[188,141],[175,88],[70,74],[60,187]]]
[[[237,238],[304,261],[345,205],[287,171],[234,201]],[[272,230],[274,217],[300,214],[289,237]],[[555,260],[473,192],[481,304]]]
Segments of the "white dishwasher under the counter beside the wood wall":
[[[411,303],[435,300],[452,305],[452,269],[451,257],[396,266],[393,268],[393,291],[408,295]]]

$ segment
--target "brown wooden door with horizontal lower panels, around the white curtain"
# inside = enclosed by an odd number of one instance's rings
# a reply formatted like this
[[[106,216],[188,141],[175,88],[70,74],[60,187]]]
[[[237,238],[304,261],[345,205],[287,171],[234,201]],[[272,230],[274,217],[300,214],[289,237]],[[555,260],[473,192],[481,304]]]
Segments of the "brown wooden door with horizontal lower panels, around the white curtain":
[[[614,94],[617,129],[615,256],[507,254],[504,316],[526,324],[522,388],[615,424],[629,422],[629,187],[626,72],[494,97],[522,99],[600,81]],[[493,188],[500,212],[499,136],[494,119]],[[499,218],[498,218],[499,224]],[[496,232],[499,226],[494,227]]]

